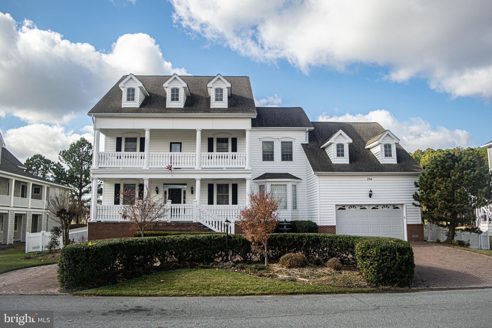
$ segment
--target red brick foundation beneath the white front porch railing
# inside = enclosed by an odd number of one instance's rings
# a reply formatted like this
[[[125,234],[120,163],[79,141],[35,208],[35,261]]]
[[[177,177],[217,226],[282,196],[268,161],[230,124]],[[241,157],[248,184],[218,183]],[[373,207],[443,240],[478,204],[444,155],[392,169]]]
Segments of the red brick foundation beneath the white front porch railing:
[[[183,223],[167,223],[155,222],[149,225],[145,230],[148,231],[210,231],[206,227],[199,225],[196,222]],[[135,225],[129,222],[89,222],[88,223],[88,239],[108,239],[108,238],[124,238],[133,237]]]

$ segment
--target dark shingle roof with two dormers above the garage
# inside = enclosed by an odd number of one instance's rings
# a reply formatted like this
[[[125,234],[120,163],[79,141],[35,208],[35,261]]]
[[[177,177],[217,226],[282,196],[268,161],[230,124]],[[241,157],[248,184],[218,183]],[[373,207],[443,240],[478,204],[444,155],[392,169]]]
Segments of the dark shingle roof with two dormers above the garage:
[[[397,144],[397,164],[381,164],[366,143],[369,139],[386,131],[379,123],[341,123],[312,122],[314,130],[309,131],[309,144],[303,144],[307,160],[314,172],[374,172],[399,173],[422,172],[422,167],[400,144]],[[348,146],[349,164],[333,164],[321,145],[324,141],[341,129],[351,139]]]

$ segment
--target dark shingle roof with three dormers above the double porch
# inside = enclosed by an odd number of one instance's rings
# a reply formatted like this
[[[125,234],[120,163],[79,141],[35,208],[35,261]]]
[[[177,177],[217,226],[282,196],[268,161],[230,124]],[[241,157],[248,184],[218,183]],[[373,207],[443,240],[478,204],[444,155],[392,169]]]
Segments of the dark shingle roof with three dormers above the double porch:
[[[123,76],[108,93],[89,111],[89,114],[251,114],[256,115],[253,92],[247,76],[224,76],[231,84],[231,96],[228,108],[210,108],[210,96],[207,89],[214,76],[180,76],[188,85],[190,96],[186,98],[184,108],[166,108],[166,92],[162,84],[171,76],[136,75],[150,96],[147,96],[139,108],[122,108],[122,90],[118,86]]]

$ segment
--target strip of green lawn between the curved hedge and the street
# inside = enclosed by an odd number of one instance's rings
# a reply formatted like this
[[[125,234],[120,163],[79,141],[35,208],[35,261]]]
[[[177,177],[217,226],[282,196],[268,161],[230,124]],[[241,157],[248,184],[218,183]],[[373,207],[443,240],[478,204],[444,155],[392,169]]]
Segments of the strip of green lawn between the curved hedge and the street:
[[[219,269],[176,269],[75,292],[79,296],[231,296],[374,292],[369,287],[333,287],[255,277]]]

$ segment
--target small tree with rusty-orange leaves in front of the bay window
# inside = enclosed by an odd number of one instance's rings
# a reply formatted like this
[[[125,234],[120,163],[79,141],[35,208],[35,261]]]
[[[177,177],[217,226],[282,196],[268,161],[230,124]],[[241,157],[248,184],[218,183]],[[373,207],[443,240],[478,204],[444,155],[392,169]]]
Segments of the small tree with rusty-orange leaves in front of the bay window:
[[[251,242],[251,248],[265,257],[265,265],[268,266],[267,242],[278,224],[280,201],[274,200],[266,191],[251,193],[248,197],[250,205],[239,212],[237,225]]]

